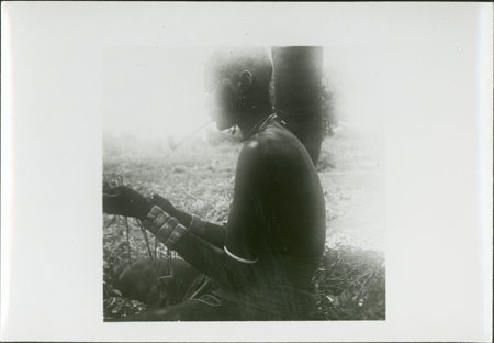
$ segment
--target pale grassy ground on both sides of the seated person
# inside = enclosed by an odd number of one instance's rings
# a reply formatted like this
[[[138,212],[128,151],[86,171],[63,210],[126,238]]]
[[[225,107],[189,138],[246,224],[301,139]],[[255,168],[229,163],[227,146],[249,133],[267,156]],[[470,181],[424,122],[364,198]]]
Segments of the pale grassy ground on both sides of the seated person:
[[[221,135],[191,140],[176,151],[160,142],[106,136],[103,177],[115,180],[121,176],[145,195],[162,195],[178,208],[221,222],[232,200],[239,148]],[[385,277],[379,135],[337,131],[323,144],[318,172],[327,212],[326,252],[314,278],[321,295],[318,319],[382,320]],[[113,268],[128,262],[128,245],[133,259],[165,256],[166,251],[155,245],[151,235],[147,245],[132,219],[105,215],[103,230],[105,318],[145,310],[144,303],[121,297],[113,287]]]

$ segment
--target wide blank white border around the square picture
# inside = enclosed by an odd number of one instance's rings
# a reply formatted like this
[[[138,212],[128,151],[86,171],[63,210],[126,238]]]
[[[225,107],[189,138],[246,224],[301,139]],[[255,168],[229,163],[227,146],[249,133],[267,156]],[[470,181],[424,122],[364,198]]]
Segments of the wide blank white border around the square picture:
[[[1,340],[490,341],[492,14],[490,3],[2,2]],[[102,51],[221,45],[389,58],[372,89],[385,321],[103,322]]]

